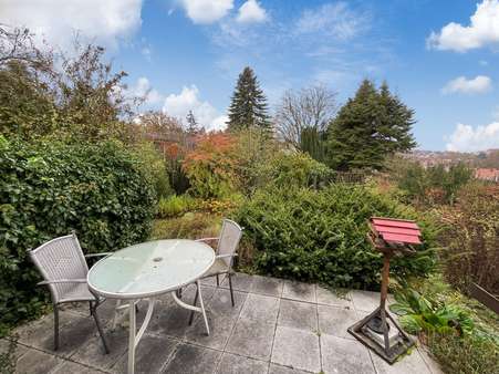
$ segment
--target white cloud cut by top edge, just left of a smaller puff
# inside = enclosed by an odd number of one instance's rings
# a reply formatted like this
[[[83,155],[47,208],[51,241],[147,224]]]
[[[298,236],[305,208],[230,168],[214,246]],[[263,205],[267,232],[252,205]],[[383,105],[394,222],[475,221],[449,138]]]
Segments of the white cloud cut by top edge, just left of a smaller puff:
[[[194,23],[214,23],[233,8],[233,0],[180,0]]]

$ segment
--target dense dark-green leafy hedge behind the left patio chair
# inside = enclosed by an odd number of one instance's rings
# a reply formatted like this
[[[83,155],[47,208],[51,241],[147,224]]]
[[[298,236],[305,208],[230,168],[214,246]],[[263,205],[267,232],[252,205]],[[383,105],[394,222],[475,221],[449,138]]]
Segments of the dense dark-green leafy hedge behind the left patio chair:
[[[29,144],[0,136],[0,330],[33,316],[45,293],[27,249],[75,230],[85,252],[148,237],[156,194],[119,143]]]

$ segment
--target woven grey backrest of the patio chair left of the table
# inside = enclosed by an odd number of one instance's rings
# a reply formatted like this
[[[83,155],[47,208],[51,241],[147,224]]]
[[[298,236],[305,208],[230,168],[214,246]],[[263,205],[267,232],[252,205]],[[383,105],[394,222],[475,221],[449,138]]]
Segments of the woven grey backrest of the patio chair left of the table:
[[[37,249],[29,251],[30,258],[45,281],[61,279],[84,279],[89,272],[82,248],[76,235],[52,239]],[[58,303],[74,284],[49,284],[52,301]]]

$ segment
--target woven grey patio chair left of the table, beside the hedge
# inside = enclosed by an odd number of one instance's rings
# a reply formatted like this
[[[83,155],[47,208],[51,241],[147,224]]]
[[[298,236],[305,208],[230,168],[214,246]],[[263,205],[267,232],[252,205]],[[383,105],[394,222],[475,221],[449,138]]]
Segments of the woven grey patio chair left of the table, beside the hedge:
[[[37,249],[30,250],[29,256],[44,281],[39,285],[48,285],[54,308],[54,351],[59,349],[59,304],[66,302],[87,301],[90,313],[95,320],[98,334],[106,353],[110,353],[101,323],[97,318],[97,307],[103,299],[90,292],[86,284],[89,267],[85,258],[100,257],[110,253],[83,256],[82,248],[73,232],[52,239]]]

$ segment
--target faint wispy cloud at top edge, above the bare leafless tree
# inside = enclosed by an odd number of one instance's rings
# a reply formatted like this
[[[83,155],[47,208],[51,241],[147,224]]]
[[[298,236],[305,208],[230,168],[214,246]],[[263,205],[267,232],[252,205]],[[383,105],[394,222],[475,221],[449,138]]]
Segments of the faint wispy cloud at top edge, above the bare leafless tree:
[[[297,33],[320,32],[339,40],[350,40],[370,28],[370,17],[340,1],[305,10],[295,27]]]

